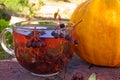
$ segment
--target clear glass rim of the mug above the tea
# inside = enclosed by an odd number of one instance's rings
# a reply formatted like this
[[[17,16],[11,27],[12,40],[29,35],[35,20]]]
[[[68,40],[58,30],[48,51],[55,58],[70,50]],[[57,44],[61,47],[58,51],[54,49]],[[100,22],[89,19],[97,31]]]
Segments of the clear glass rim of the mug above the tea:
[[[49,24],[48,24],[49,23]],[[12,27],[22,27],[22,26],[55,26],[57,27],[59,24],[64,23],[65,25],[68,26],[74,26],[75,23],[70,22],[69,20],[61,20],[61,21],[57,21],[57,20],[31,20],[31,21],[21,21],[21,22],[17,22],[12,24]]]

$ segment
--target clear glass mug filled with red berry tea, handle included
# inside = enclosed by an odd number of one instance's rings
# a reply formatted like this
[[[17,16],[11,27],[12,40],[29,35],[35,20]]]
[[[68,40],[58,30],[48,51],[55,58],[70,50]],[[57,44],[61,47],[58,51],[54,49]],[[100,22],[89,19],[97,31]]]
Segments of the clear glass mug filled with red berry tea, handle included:
[[[15,56],[19,64],[38,76],[53,76],[62,70],[72,59],[73,48],[65,36],[70,31],[64,27],[73,27],[73,23],[60,23],[54,20],[23,21],[13,24],[1,33],[1,46]],[[65,25],[64,25],[65,24]],[[5,43],[6,32],[13,36],[14,50]]]

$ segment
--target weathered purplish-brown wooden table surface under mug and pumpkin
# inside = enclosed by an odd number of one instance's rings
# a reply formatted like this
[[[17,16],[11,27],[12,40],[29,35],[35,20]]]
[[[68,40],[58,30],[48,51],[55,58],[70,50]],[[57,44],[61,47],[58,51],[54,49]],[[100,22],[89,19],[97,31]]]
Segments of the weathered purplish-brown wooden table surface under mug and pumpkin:
[[[58,75],[44,78],[32,75],[19,65],[16,58],[0,60],[0,80],[71,80],[73,75],[88,80],[92,73],[96,73],[97,80],[120,80],[120,68],[90,66],[78,56],[73,56],[72,61]]]

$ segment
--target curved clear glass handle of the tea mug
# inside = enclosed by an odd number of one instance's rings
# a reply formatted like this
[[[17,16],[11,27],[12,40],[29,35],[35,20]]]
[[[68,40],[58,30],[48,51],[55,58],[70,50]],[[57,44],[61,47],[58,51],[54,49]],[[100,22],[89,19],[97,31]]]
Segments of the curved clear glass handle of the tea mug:
[[[12,55],[13,57],[15,57],[15,54],[14,54],[14,50],[11,49],[11,48],[8,48],[7,47],[7,44],[6,44],[6,39],[5,39],[5,34],[7,32],[10,32],[12,34],[12,29],[11,28],[5,28],[1,34],[0,34],[0,44],[2,46],[2,48],[10,55]]]

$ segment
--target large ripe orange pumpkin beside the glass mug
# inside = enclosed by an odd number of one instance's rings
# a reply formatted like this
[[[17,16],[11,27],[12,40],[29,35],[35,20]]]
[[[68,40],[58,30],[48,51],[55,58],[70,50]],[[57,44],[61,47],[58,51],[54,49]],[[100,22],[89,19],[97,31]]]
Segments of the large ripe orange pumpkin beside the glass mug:
[[[78,56],[91,64],[120,67],[120,0],[87,0],[70,21],[76,24]]]

